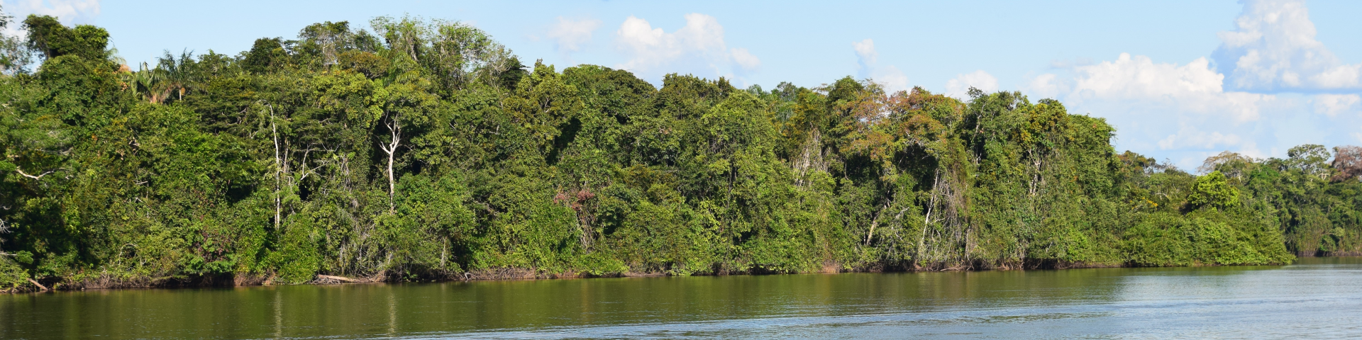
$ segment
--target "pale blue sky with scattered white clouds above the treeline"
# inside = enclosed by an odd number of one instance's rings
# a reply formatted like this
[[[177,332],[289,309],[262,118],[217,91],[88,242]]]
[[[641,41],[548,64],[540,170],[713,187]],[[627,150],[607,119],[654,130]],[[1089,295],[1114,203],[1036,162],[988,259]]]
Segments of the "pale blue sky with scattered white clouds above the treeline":
[[[1192,170],[1222,151],[1362,144],[1362,1],[120,1],[0,0],[112,34],[129,64],[237,54],[316,22],[474,24],[522,60],[772,88],[842,76],[970,87],[1106,118],[1117,151]],[[14,27],[7,34],[19,34]]]

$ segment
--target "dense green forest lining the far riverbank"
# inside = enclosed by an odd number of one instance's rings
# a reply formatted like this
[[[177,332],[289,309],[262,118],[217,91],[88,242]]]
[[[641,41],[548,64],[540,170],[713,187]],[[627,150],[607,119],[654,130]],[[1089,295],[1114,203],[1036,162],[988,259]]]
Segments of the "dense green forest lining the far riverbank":
[[[125,65],[0,41],[0,291],[1282,264],[1362,250],[1362,148],[1117,152],[1053,99],[526,64],[377,18]],[[321,275],[321,276],[319,276]]]

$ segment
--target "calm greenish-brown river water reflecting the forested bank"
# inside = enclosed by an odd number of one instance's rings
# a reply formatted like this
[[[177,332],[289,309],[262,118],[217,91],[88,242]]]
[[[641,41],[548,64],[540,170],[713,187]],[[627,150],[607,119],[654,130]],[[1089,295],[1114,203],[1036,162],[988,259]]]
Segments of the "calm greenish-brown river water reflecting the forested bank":
[[[0,339],[1362,337],[1362,258],[0,295]]]

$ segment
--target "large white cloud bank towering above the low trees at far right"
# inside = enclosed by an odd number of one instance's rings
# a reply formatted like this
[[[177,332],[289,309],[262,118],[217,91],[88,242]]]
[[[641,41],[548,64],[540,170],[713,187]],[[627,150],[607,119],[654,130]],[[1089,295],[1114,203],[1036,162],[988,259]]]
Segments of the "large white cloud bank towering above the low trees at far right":
[[[1194,167],[1234,151],[1284,156],[1299,144],[1362,141],[1362,64],[1316,41],[1301,1],[1245,1],[1235,30],[1209,58],[1185,64],[1121,53],[1098,63],[1051,63],[1026,91],[1117,126],[1115,146]]]

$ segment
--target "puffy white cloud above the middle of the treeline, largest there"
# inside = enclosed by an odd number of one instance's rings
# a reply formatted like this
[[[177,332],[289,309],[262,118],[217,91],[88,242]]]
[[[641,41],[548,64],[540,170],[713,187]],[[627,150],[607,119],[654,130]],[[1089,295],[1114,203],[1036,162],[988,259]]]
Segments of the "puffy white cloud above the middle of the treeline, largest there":
[[[704,68],[731,78],[761,65],[761,60],[746,49],[730,49],[725,44],[723,26],[714,16],[688,14],[685,22],[680,30],[667,33],[648,20],[629,16],[616,30],[616,42],[628,54],[617,67],[643,73]]]

